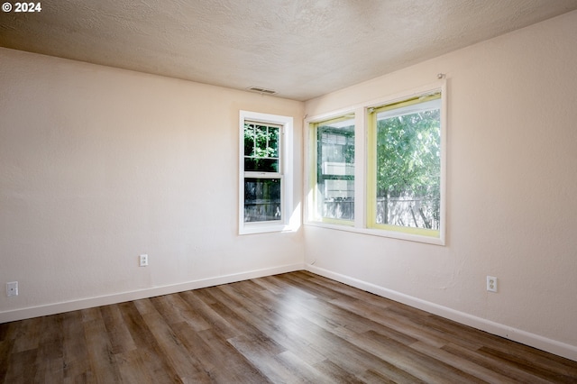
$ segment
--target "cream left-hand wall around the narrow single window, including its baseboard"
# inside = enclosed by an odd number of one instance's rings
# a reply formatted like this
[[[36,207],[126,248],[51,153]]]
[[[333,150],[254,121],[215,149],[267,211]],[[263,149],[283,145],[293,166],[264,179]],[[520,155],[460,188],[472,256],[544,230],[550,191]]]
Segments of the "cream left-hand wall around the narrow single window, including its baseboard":
[[[0,284],[20,286],[0,322],[302,268],[301,230],[237,235],[239,110],[294,117],[298,197],[302,103],[17,50],[0,62]]]

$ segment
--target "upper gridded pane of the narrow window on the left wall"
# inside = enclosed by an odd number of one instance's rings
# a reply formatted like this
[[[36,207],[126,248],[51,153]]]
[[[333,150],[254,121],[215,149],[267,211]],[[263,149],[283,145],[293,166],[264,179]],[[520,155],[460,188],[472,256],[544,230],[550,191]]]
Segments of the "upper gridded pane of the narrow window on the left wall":
[[[279,172],[278,126],[244,124],[244,170]]]

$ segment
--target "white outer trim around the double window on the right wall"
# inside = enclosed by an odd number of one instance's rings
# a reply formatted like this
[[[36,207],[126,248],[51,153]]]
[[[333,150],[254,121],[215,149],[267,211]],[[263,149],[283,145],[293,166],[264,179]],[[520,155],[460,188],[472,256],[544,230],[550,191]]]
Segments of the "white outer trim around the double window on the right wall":
[[[367,227],[367,145],[368,145],[368,135],[367,135],[367,110],[371,107],[380,106],[384,104],[394,103],[396,101],[401,101],[408,99],[411,96],[417,96],[420,94],[425,94],[427,92],[433,92],[441,90],[441,209],[440,209],[440,228],[439,237],[425,236],[413,233],[404,233],[397,231],[388,231],[384,229],[374,229]],[[311,186],[311,174],[310,174],[310,161],[311,161],[311,148],[310,140],[310,125],[312,123],[322,122],[330,118],[342,114],[355,114],[355,169],[354,169],[354,198],[355,198],[355,209],[354,209],[354,225],[341,225],[332,223],[323,223],[316,221],[314,219],[314,209],[313,206],[313,194]],[[446,92],[446,81],[441,80],[433,84],[427,85],[425,87],[418,87],[411,89],[406,92],[401,92],[398,94],[380,97],[376,100],[371,100],[369,102],[360,103],[358,105],[352,105],[347,108],[343,108],[338,111],[330,112],[327,114],[319,114],[316,116],[308,117],[305,120],[305,154],[306,154],[306,166],[305,166],[305,190],[304,197],[306,201],[305,205],[305,220],[304,224],[311,226],[318,226],[328,229],[334,229],[338,231],[352,232],[352,233],[363,233],[373,236],[389,237],[399,240],[407,240],[412,242],[425,242],[435,245],[445,244],[446,235],[446,150],[447,150],[447,92]]]

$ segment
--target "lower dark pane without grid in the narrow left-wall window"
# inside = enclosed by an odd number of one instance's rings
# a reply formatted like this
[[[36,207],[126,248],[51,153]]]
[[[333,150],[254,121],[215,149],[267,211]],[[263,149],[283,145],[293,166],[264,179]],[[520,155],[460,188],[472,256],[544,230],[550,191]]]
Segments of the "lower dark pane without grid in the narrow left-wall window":
[[[244,222],[280,219],[280,178],[244,178]]]

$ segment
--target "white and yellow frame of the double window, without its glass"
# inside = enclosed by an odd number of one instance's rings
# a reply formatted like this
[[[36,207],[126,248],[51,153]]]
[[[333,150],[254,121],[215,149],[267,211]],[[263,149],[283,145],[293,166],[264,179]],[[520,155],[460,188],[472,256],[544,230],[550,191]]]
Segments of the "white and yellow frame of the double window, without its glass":
[[[371,108],[378,108],[382,105],[391,105],[398,102],[408,100],[409,98],[426,95],[429,93],[441,93],[441,180],[440,180],[440,224],[439,230],[435,233],[427,233],[427,231],[415,231],[411,227],[390,228],[385,225],[372,225],[371,219],[374,217],[376,206],[371,203],[371,191],[376,190],[376,176],[369,174],[371,170],[376,169],[376,149],[373,151],[371,145],[375,144],[375,138],[371,138],[371,127],[369,123],[369,111]],[[313,191],[316,174],[311,167],[316,167],[316,159],[314,158],[314,151],[316,147],[316,137],[311,131],[314,130],[314,124],[330,120],[341,116],[343,114],[355,115],[355,170],[354,170],[354,223],[353,225],[339,224],[334,222],[323,222],[318,220],[314,215]],[[435,83],[426,85],[424,87],[417,87],[405,92],[399,92],[394,95],[380,97],[379,99],[368,102],[351,105],[338,111],[333,111],[327,114],[319,114],[311,116],[305,120],[306,131],[306,148],[307,166],[305,171],[307,173],[305,180],[305,222],[307,225],[314,225],[325,227],[334,230],[364,233],[381,237],[388,237],[393,239],[407,240],[412,242],[425,242],[435,245],[445,245],[446,237],[446,162],[447,162],[447,91],[446,80],[440,80]],[[369,161],[374,161],[370,164]],[[373,186],[374,184],[374,186]],[[399,230],[401,229],[401,230]],[[406,229],[406,230],[405,230]],[[433,235],[432,235],[433,234]]]

